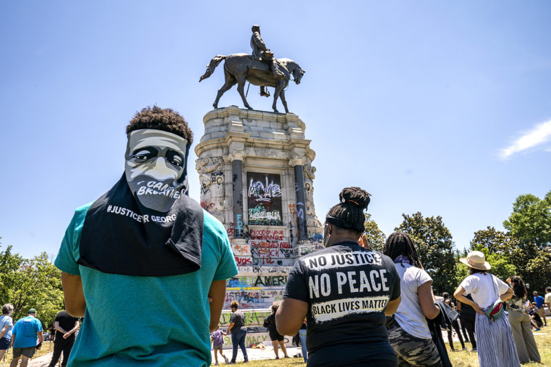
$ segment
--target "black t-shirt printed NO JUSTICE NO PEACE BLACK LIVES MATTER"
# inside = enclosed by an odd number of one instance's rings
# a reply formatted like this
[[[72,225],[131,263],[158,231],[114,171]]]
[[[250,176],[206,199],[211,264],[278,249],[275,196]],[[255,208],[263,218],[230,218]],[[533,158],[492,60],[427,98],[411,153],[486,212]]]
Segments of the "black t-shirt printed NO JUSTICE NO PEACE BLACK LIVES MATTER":
[[[357,242],[339,242],[298,259],[283,297],[309,304],[308,365],[345,366],[396,360],[383,312],[399,295],[391,258]]]

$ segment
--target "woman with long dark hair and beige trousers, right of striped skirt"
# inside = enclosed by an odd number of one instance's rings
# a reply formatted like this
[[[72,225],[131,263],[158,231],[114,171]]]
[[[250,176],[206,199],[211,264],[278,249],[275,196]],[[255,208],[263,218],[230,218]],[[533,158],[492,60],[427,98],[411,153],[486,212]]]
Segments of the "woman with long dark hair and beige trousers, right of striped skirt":
[[[514,294],[507,300],[507,309],[519,360],[521,363],[540,362],[541,357],[539,356],[538,347],[534,335],[532,335],[532,330],[530,330],[530,316],[524,312],[528,292],[524,282],[517,275],[511,278],[511,286]]]

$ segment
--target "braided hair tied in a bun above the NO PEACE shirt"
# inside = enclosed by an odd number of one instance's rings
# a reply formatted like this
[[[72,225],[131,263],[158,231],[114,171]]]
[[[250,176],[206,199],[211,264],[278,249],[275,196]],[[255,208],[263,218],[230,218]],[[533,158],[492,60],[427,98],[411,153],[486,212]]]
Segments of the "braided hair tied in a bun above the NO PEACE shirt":
[[[326,220],[335,227],[363,233],[364,209],[367,209],[371,201],[369,196],[371,194],[360,187],[345,187],[340,191],[340,202],[329,209]]]

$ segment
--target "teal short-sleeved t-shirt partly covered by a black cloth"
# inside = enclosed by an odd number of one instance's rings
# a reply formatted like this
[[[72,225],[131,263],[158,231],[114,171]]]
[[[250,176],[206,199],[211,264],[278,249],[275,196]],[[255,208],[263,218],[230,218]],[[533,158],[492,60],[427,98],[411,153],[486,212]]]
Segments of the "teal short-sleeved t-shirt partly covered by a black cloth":
[[[224,226],[204,211],[201,269],[194,273],[103,273],[76,263],[90,205],[76,209],[54,262],[81,276],[86,300],[68,366],[209,366],[209,288],[238,273]]]

